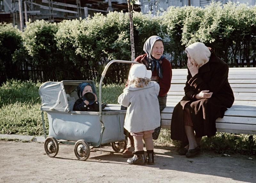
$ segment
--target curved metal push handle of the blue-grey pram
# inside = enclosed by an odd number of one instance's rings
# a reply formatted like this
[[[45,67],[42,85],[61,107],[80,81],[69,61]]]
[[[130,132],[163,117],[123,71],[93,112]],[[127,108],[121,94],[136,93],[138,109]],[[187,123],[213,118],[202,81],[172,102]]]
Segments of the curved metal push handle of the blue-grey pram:
[[[101,74],[101,78],[100,78],[100,86],[99,86],[99,109],[100,109],[100,122],[101,122],[101,124],[103,125],[103,122],[102,122],[102,108],[101,108],[101,85],[102,85],[102,81],[103,81],[103,79],[104,79],[104,77],[105,77],[105,75],[106,75],[106,72],[107,72],[107,70],[108,70],[108,67],[112,64],[112,63],[114,63],[114,62],[119,62],[119,63],[130,63],[130,64],[132,64],[132,63],[138,63],[138,62],[134,62],[134,61],[126,61],[126,60],[112,60],[112,61],[110,61],[110,62],[108,62],[108,64],[105,66],[105,68],[104,68],[104,70],[103,70],[103,72],[102,72],[102,74]]]

